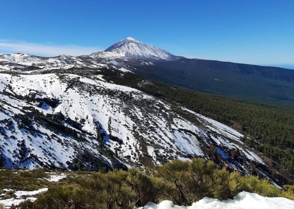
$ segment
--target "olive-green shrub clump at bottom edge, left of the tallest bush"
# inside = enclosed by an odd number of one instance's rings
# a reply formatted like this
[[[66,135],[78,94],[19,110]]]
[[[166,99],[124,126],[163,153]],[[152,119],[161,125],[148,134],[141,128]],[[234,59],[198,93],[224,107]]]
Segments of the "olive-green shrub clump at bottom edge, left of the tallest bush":
[[[80,185],[54,186],[40,195],[29,208],[131,209],[135,205],[136,193],[127,186],[127,175],[121,170],[95,173],[80,181]]]

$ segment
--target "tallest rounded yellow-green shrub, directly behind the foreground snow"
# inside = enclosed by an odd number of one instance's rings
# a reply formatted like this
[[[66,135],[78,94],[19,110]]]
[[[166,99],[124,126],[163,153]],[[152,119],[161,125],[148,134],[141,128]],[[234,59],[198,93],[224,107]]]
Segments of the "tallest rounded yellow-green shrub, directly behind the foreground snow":
[[[156,169],[159,178],[176,188],[175,192],[169,193],[169,197],[179,205],[191,204],[205,196],[220,200],[232,197],[230,173],[225,168],[217,169],[212,161],[200,158],[175,160]]]

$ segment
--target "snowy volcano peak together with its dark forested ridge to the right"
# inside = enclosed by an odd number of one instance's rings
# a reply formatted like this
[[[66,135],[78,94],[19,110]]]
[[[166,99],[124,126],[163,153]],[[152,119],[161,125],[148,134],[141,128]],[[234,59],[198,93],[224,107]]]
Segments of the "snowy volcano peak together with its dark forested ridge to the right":
[[[92,57],[124,61],[139,75],[180,87],[294,105],[294,71],[278,67],[187,59],[131,37]]]

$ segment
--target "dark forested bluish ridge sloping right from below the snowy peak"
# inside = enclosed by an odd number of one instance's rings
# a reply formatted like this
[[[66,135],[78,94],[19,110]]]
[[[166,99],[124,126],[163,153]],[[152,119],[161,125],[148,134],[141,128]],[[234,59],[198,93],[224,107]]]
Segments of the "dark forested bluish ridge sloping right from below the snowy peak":
[[[294,70],[217,60],[134,61],[133,72],[202,92],[294,105]]]

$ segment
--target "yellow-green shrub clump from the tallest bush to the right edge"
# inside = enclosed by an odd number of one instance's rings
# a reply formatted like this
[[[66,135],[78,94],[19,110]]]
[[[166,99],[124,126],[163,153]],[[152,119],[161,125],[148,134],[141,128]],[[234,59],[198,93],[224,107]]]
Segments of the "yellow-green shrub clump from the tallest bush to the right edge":
[[[239,171],[219,169],[212,161],[195,158],[192,161],[175,160],[156,168],[155,175],[174,186],[165,198],[178,205],[191,203],[207,196],[226,200],[242,191],[258,193],[268,197],[294,199],[294,186],[277,188],[267,179],[258,176],[243,176]]]

